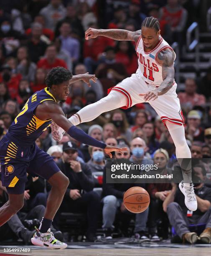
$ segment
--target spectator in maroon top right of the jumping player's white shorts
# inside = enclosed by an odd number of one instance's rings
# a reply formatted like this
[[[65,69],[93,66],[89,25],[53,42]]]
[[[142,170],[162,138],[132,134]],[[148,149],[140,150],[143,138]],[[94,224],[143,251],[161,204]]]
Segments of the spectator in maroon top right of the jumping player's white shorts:
[[[186,79],[185,84],[185,92],[178,93],[181,107],[191,110],[194,106],[204,105],[206,103],[206,98],[204,95],[196,93],[196,81],[192,78],[188,78]]]

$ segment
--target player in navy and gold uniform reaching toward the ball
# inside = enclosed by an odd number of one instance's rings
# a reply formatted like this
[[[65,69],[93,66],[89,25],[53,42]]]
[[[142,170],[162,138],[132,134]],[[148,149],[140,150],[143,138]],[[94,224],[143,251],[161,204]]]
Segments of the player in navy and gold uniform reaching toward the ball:
[[[53,158],[36,146],[36,139],[51,125],[52,120],[71,137],[81,143],[103,148],[111,156],[112,151],[125,148],[107,146],[76,128],[65,117],[58,102],[69,95],[69,86],[78,80],[89,84],[96,80],[94,75],[72,76],[63,67],[51,69],[46,77],[48,87],[35,92],[25,103],[21,112],[10,125],[8,133],[0,141],[1,181],[6,187],[9,200],[0,208],[0,226],[23,207],[26,173],[48,180],[52,189],[48,196],[46,212],[39,229],[31,238],[34,245],[51,249],[64,249],[67,244],[54,238],[50,230],[52,220],[61,205],[69,185],[69,179],[58,169]]]

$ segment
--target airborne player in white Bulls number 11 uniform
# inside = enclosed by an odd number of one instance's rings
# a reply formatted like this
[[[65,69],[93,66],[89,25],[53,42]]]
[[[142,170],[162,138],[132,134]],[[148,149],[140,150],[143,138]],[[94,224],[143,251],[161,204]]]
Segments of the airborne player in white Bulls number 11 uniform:
[[[85,39],[105,36],[114,40],[135,41],[138,69],[131,77],[113,87],[107,97],[87,105],[69,120],[74,125],[89,122],[100,114],[116,108],[130,108],[141,102],[149,102],[167,126],[176,147],[176,156],[183,170],[183,181],[179,187],[185,195],[189,210],[197,209],[196,196],[191,181],[191,151],[184,131],[184,119],[174,80],[175,52],[160,36],[158,19],[147,17],[141,30],[132,32],[123,29],[94,29],[85,32]],[[58,129],[58,137],[62,136]],[[182,161],[182,159],[188,159]]]

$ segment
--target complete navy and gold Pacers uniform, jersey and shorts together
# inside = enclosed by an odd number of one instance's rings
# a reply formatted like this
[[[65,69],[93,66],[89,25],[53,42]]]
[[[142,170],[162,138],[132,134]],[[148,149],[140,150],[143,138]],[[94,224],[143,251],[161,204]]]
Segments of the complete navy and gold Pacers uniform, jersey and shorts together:
[[[47,88],[34,93],[0,141],[0,176],[8,193],[23,194],[26,172],[48,180],[60,171],[53,158],[35,143],[52,121],[40,120],[35,115],[37,106],[46,100],[56,102]]]

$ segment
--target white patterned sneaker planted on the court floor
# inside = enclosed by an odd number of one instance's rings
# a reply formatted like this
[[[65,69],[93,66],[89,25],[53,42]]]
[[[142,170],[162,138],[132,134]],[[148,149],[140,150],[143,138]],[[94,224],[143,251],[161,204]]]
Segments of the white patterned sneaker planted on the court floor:
[[[51,229],[48,228],[46,233],[41,233],[38,228],[36,228],[36,232],[31,238],[31,242],[36,246],[46,247],[48,249],[64,249],[67,247],[66,243],[62,243],[58,241],[51,232]]]

